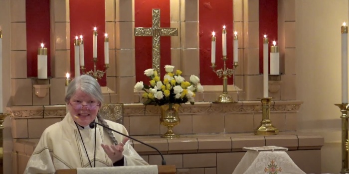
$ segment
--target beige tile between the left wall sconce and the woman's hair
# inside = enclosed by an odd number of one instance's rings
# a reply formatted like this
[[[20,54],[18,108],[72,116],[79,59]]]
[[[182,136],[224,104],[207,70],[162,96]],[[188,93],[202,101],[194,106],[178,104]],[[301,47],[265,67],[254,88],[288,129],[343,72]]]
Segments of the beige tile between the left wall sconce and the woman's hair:
[[[55,104],[65,104],[64,97],[65,97],[65,85],[64,85],[65,79],[57,79],[52,78],[50,80],[51,87],[50,87],[50,103],[52,105]]]

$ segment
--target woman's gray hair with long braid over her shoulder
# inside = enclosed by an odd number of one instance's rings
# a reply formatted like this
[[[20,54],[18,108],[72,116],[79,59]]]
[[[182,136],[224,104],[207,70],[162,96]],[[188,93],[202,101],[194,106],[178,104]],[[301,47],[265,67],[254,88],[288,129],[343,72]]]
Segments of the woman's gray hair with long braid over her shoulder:
[[[91,95],[93,98],[97,99],[101,105],[103,104],[103,94],[101,86],[93,77],[89,75],[82,75],[80,77],[75,78],[68,86],[67,93],[65,94],[65,102],[68,103],[70,98],[75,94],[77,90],[81,90]],[[97,119],[101,124],[103,124],[106,127],[109,127],[107,122],[99,113],[97,113]],[[108,136],[111,138],[112,142],[117,145],[118,141],[115,139],[112,131],[109,129],[104,130],[108,133]]]

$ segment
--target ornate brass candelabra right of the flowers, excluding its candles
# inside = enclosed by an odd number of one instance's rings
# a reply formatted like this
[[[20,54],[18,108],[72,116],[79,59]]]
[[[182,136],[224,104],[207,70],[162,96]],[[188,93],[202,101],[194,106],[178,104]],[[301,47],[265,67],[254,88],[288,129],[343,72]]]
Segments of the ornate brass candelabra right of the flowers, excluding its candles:
[[[234,62],[233,69],[226,68],[226,62],[227,57],[223,56],[223,69],[215,70],[216,65],[215,63],[212,63],[212,70],[215,72],[218,76],[218,78],[221,78],[223,76],[223,93],[220,94],[217,98],[215,103],[236,103],[237,101],[233,100],[233,98],[228,94],[228,77],[231,77],[234,74],[234,70],[238,66],[237,62]]]

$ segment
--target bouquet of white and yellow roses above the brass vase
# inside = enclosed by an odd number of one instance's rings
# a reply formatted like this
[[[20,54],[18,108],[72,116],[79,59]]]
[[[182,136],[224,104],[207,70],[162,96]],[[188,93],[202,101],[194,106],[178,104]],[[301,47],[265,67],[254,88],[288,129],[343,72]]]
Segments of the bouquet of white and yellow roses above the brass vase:
[[[144,104],[180,104],[190,102],[194,104],[195,92],[203,92],[203,87],[200,84],[200,79],[195,76],[190,76],[190,82],[184,80],[180,75],[180,70],[174,71],[174,66],[165,66],[166,75],[161,81],[158,72],[154,69],[144,71],[144,74],[151,80],[150,85],[145,85],[143,82],[137,82],[134,91],[139,92],[144,90],[142,98],[145,99]]]

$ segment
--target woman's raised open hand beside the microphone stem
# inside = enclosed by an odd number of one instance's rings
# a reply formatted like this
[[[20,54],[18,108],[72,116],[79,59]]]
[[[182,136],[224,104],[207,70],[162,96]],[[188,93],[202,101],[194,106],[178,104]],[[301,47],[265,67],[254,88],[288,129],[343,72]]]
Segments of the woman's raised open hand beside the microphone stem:
[[[122,152],[127,141],[129,141],[129,138],[124,138],[118,145],[108,146],[101,144],[101,146],[112,162],[115,163],[123,158]]]

